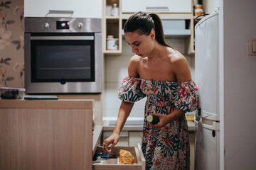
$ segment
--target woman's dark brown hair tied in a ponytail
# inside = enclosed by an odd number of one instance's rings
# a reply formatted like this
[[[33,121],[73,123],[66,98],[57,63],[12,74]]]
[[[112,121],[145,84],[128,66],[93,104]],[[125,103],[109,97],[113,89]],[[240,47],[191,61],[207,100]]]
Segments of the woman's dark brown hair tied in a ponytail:
[[[146,14],[144,12],[137,12],[130,16],[124,23],[124,33],[137,31],[139,35],[149,35],[151,30],[155,31],[156,40],[159,44],[171,47],[164,40],[161,19],[155,13]]]

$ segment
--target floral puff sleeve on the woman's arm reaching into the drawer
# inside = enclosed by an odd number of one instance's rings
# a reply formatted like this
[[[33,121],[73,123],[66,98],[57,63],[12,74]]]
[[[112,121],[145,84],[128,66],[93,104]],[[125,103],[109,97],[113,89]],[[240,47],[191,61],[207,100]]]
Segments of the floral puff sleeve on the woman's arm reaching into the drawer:
[[[145,97],[140,89],[140,80],[134,77],[125,77],[118,90],[118,98],[125,102],[134,103]]]

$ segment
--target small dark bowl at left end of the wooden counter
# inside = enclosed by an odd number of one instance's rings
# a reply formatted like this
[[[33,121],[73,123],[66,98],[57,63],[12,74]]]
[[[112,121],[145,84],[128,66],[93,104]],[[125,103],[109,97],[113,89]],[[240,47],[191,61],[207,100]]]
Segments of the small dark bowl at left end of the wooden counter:
[[[25,89],[11,88],[11,87],[0,87],[1,99],[21,99]]]

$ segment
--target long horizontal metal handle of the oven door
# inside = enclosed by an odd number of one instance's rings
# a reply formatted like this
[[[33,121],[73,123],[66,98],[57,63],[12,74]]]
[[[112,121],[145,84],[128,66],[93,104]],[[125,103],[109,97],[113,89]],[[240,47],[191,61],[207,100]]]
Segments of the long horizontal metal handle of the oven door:
[[[31,36],[31,40],[94,40],[94,36]]]

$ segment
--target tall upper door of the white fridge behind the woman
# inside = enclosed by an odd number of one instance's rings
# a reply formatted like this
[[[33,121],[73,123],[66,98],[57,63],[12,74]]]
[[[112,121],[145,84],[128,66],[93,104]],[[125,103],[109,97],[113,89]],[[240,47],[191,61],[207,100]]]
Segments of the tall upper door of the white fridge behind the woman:
[[[220,120],[218,112],[218,13],[204,17],[195,27],[195,77],[201,117]]]

